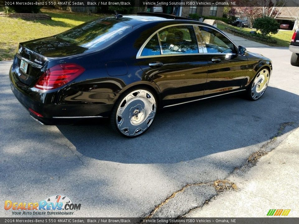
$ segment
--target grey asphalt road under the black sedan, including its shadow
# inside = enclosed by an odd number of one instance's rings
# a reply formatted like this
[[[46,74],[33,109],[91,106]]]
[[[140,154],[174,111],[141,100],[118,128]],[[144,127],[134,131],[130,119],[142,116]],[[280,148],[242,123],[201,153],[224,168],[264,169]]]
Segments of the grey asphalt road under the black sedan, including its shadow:
[[[10,90],[12,62],[0,62],[0,201],[66,195],[82,204],[75,217],[144,217],[161,203],[152,216],[177,217],[203,204],[216,194],[203,183],[225,180],[273,136],[286,138],[298,127],[299,67],[290,65],[291,52],[248,50],[273,61],[260,100],[234,96],[162,110],[150,130],[133,139],[114,133],[105,121],[38,124]],[[186,184],[195,185],[166,200]],[[0,217],[12,217],[12,210],[2,207]]]

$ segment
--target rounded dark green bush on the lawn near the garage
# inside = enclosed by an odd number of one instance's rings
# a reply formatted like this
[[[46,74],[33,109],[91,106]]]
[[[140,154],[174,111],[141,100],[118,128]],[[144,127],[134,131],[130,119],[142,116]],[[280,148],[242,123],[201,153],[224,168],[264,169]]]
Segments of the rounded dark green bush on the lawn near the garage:
[[[254,20],[253,28],[260,30],[262,36],[267,36],[268,34],[278,33],[280,25],[279,23],[270,17],[261,17]]]

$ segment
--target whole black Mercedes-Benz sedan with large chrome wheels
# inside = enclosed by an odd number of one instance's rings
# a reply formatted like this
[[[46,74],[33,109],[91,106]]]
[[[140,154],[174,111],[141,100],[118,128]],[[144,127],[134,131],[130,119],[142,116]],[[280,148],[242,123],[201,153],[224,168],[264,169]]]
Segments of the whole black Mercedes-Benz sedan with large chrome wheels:
[[[109,117],[113,129],[135,137],[159,108],[238,92],[258,100],[271,72],[270,59],[213,26],[149,12],[20,43],[9,77],[42,124]]]

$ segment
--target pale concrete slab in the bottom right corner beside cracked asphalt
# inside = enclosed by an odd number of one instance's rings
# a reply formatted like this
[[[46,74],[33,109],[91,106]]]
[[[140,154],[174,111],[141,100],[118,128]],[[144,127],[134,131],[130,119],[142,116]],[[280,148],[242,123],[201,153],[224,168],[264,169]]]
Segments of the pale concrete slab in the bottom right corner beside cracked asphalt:
[[[267,217],[269,209],[291,209],[287,217],[299,217],[298,139],[299,128],[256,166],[228,177],[238,190],[216,196],[188,217]]]

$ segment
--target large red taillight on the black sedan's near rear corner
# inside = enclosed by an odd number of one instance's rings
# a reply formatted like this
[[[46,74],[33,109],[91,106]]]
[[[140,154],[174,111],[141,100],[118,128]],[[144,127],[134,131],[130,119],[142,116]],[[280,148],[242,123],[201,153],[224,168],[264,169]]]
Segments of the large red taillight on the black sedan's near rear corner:
[[[42,90],[52,90],[67,84],[85,71],[74,63],[55,65],[45,71],[37,80],[34,87]]]

